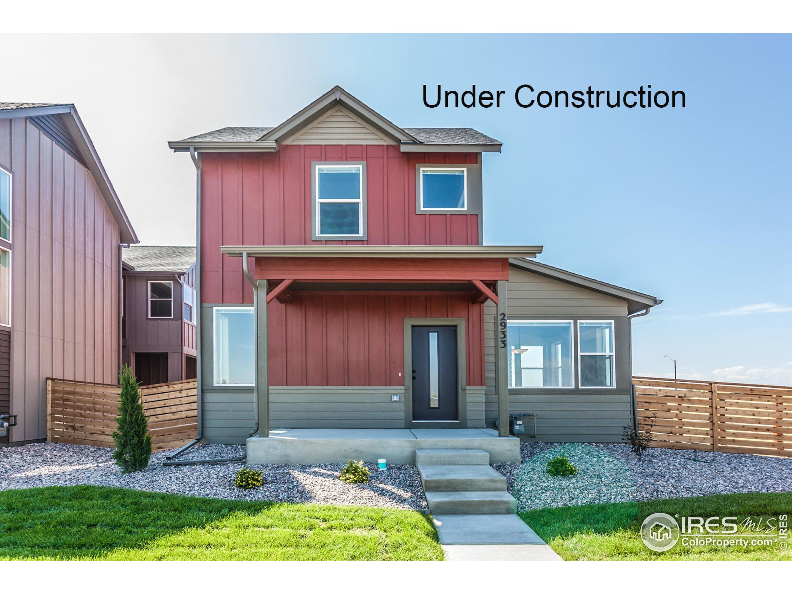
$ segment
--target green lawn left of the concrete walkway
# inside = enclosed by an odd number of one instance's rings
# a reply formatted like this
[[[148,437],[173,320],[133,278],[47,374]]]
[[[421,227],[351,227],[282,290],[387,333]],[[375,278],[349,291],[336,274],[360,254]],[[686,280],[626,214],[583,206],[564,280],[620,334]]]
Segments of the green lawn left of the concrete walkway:
[[[3,559],[441,560],[429,516],[107,487],[0,492]]]

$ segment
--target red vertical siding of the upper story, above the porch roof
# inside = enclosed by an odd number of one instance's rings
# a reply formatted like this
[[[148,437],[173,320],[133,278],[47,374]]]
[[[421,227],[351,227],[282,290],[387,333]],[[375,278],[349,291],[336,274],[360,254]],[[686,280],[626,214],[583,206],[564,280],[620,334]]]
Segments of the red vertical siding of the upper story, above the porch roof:
[[[311,241],[310,175],[316,161],[366,162],[367,241]],[[418,215],[415,208],[418,163],[477,162],[472,153],[402,153],[383,145],[204,153],[201,303],[253,303],[242,262],[222,256],[220,246],[478,246],[478,215]]]

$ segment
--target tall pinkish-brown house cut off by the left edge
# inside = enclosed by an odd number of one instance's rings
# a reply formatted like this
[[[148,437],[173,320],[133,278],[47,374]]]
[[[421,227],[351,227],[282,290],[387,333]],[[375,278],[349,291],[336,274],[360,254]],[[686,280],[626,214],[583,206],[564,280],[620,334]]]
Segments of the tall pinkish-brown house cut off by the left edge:
[[[74,105],[0,103],[0,414],[46,436],[46,379],[116,383],[138,242]],[[6,439],[7,440],[7,439]]]

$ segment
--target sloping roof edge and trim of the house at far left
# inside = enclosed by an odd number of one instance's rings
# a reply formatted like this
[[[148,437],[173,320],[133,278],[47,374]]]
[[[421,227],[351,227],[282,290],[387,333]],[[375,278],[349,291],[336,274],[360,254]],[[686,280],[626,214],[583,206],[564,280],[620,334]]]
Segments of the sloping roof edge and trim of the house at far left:
[[[82,120],[80,120],[80,116],[74,104],[0,103],[0,120],[15,117],[30,118],[29,121],[36,125],[37,128],[43,129],[44,133],[48,136],[50,133],[45,129],[46,126],[42,125],[44,120],[41,120],[41,118],[42,116],[55,116],[56,114],[59,115],[59,124],[63,124],[63,128],[65,128],[69,140],[74,143],[73,149],[77,153],[76,156],[79,157],[78,160],[82,160],[86,169],[91,172],[93,180],[96,182],[102,197],[105,198],[105,202],[112,213],[112,217],[118,224],[121,243],[139,242],[140,240],[137,234],[135,234],[132,224],[129,222],[127,213],[121,205],[115,188],[112,187],[110,178],[105,171],[105,166],[102,165],[99,154],[96,148],[93,147],[93,142],[85,126],[82,124]]]

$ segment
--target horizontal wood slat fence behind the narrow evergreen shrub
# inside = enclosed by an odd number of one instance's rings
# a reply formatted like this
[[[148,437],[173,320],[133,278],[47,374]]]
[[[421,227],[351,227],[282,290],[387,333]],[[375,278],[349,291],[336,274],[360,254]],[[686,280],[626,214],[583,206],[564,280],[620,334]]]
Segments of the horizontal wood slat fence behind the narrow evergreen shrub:
[[[143,411],[154,450],[179,447],[196,438],[196,380],[141,386]],[[47,440],[60,444],[114,447],[120,387],[106,383],[47,379]]]

